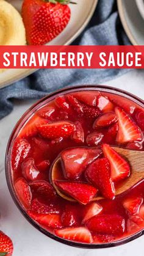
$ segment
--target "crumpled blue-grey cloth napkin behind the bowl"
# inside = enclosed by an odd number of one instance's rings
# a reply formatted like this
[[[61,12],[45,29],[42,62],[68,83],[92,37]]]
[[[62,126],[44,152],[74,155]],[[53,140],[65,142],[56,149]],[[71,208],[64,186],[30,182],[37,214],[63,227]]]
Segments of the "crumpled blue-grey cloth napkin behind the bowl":
[[[128,45],[117,11],[116,0],[99,0],[92,20],[73,45]],[[13,109],[13,100],[44,97],[61,87],[97,84],[120,76],[123,69],[55,69],[38,70],[34,74],[0,90],[0,119]]]

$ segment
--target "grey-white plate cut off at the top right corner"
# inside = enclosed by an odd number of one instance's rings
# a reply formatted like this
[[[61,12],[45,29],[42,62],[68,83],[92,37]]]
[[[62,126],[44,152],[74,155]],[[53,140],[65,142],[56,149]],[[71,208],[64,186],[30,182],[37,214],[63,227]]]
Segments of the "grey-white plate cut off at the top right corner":
[[[117,0],[124,30],[133,45],[144,45],[144,20],[135,0]]]

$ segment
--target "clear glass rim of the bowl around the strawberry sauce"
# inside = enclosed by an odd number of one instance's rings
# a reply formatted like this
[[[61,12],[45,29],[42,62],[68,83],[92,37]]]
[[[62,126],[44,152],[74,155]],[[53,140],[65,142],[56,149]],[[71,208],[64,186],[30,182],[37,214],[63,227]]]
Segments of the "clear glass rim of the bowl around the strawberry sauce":
[[[32,111],[34,111],[34,109],[36,110],[40,108],[40,105],[43,106],[43,103],[45,103],[46,100],[51,101],[52,98],[56,97],[56,95],[69,93],[69,92],[84,91],[84,90],[97,90],[97,91],[99,90],[102,92],[109,92],[109,93],[111,92],[116,95],[121,95],[123,97],[129,98],[130,100],[134,101],[140,106],[144,106],[144,101],[141,98],[133,95],[132,93],[126,92],[125,90],[121,90],[116,87],[104,86],[99,84],[89,84],[89,85],[84,84],[84,85],[78,85],[78,86],[70,86],[70,87],[65,87],[65,88],[56,90],[52,93],[49,93],[48,95],[46,95],[46,97],[43,97],[40,100],[38,100],[36,103],[32,104],[32,106],[29,109],[27,109],[27,111],[25,111],[24,114],[20,117],[18,122],[16,122],[16,125],[13,128],[12,133],[10,134],[9,141],[7,143],[7,149],[5,152],[5,177],[6,177],[7,186],[9,188],[10,195],[12,196],[12,199],[15,202],[16,207],[18,207],[18,209],[21,211],[21,213],[27,219],[27,221],[29,221],[29,223],[32,224],[41,233],[45,234],[49,238],[52,238],[53,240],[56,240],[60,243],[66,244],[68,246],[73,246],[73,247],[80,247],[85,249],[115,247],[115,246],[128,243],[142,236],[144,234],[144,229],[126,238],[122,238],[118,241],[113,241],[111,243],[104,243],[104,244],[84,244],[84,243],[78,243],[70,240],[65,240],[63,238],[60,238],[50,233],[48,230],[43,229],[42,227],[40,227],[40,225],[37,224],[37,222],[35,222],[31,217],[29,217],[29,215],[26,213],[26,210],[24,210],[23,205],[21,205],[20,201],[18,200],[18,197],[16,196],[16,193],[12,184],[12,173],[10,170],[10,156],[12,151],[12,142],[15,140],[15,137],[18,134],[18,130],[20,130],[20,127],[23,126],[23,123],[25,123],[26,120],[28,120],[32,114],[34,114],[34,112],[32,113]]]

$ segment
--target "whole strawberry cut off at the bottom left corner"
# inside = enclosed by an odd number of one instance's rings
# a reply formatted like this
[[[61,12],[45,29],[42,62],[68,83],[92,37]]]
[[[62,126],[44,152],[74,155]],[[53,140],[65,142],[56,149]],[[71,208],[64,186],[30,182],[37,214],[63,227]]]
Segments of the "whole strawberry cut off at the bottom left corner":
[[[12,256],[13,244],[9,236],[0,231],[0,256]]]

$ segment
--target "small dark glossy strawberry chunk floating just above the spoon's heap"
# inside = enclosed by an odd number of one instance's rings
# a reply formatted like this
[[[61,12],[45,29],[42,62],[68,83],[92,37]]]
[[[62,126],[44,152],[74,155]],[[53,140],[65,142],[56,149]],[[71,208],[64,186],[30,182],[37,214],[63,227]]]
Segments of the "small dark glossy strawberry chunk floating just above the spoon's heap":
[[[97,146],[103,139],[103,133],[94,131],[93,133],[88,134],[86,142],[88,146]]]

